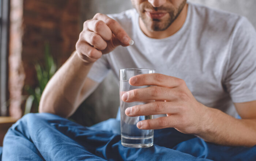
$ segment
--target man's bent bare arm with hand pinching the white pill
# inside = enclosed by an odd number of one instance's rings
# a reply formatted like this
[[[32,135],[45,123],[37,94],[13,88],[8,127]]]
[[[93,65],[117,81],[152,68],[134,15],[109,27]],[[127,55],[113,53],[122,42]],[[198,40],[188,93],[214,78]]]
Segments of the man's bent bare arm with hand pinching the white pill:
[[[130,41],[120,24],[106,15],[96,14],[84,22],[76,51],[46,85],[39,112],[71,116],[98,85],[86,78],[93,63],[119,45],[129,46]]]

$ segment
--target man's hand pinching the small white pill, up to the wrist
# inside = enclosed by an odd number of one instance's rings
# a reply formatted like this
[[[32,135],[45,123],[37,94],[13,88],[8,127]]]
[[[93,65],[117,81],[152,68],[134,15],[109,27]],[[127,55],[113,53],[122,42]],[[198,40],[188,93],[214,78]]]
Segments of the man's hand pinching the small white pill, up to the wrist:
[[[91,63],[119,45],[129,46],[130,41],[131,38],[116,20],[98,13],[84,22],[76,51],[84,62]]]

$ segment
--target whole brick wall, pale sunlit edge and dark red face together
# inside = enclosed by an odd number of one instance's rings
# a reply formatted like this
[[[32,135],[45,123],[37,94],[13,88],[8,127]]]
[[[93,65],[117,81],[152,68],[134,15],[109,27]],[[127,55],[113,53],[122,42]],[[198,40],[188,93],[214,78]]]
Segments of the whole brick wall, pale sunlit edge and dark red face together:
[[[9,111],[19,118],[23,86],[37,85],[34,64],[43,63],[45,43],[59,65],[75,50],[80,0],[11,0],[10,14]]]

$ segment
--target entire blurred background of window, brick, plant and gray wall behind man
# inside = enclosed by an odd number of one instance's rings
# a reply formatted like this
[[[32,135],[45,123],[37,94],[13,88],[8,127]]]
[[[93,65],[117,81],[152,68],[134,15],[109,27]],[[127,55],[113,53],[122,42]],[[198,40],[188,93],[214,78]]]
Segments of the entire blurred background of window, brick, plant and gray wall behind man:
[[[256,27],[255,0],[189,1],[243,15]],[[97,12],[130,8],[130,0],[0,0],[0,145],[12,123],[38,111],[47,81],[75,50],[83,22]],[[110,73],[70,119],[91,126],[116,117],[113,78]]]

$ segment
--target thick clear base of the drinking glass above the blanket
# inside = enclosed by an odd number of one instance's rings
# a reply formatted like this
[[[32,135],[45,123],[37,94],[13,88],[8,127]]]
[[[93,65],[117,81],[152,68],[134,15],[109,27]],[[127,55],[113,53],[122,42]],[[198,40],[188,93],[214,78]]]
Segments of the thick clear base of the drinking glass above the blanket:
[[[153,146],[153,136],[148,138],[131,138],[121,136],[121,143],[125,147],[150,147]]]

